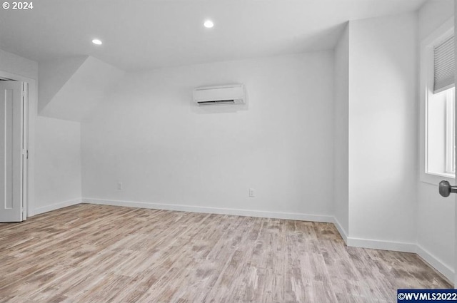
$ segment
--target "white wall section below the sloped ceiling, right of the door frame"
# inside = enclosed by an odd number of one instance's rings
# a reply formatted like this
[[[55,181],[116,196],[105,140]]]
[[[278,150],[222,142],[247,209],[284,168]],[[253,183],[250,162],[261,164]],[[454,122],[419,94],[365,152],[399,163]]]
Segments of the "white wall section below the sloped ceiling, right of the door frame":
[[[36,213],[81,202],[81,125],[36,120]]]

